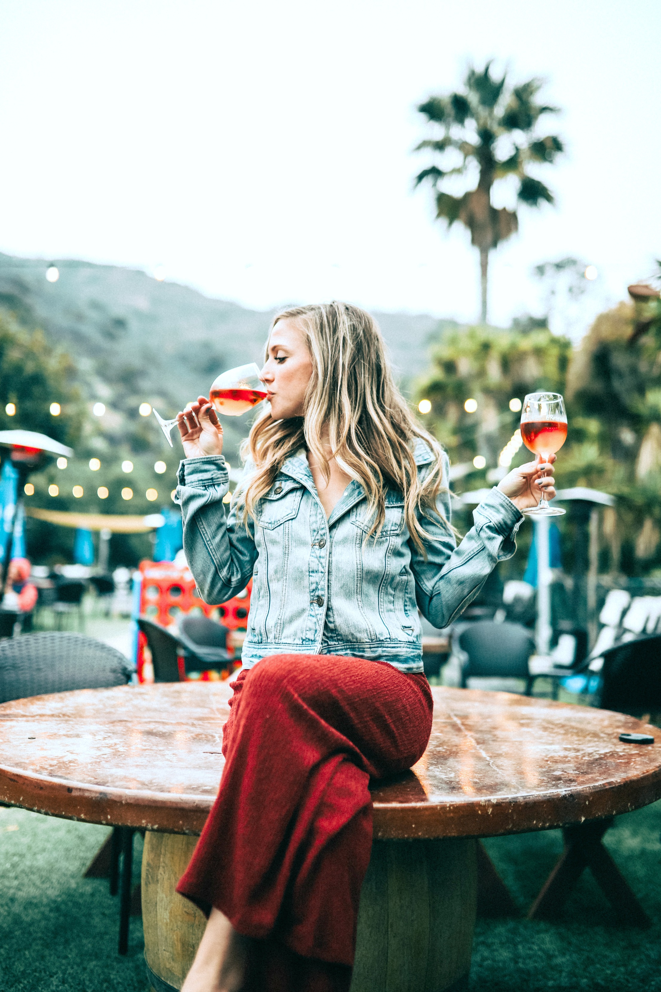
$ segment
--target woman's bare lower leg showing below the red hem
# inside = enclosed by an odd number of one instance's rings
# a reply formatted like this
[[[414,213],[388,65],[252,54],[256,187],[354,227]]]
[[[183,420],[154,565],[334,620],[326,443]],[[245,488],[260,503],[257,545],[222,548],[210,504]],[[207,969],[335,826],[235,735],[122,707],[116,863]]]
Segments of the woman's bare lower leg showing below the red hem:
[[[220,910],[211,910],[181,992],[240,992],[248,944],[248,938],[237,933]]]

